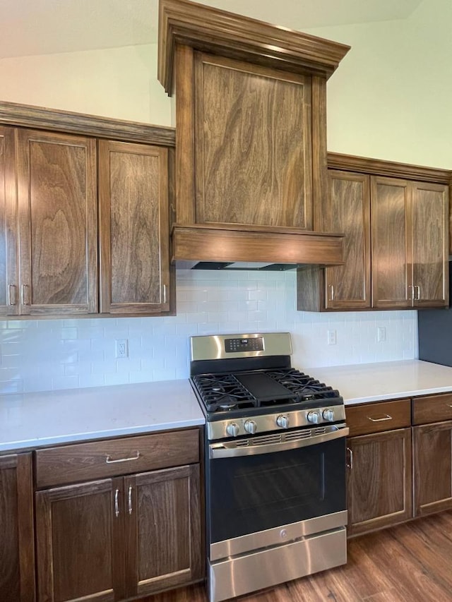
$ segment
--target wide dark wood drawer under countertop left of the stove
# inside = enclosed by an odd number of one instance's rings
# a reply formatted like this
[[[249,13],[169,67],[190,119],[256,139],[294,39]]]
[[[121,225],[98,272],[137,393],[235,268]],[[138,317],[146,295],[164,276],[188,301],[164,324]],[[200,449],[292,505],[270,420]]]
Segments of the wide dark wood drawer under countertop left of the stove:
[[[36,452],[36,486],[91,481],[196,462],[198,429],[49,447]]]

